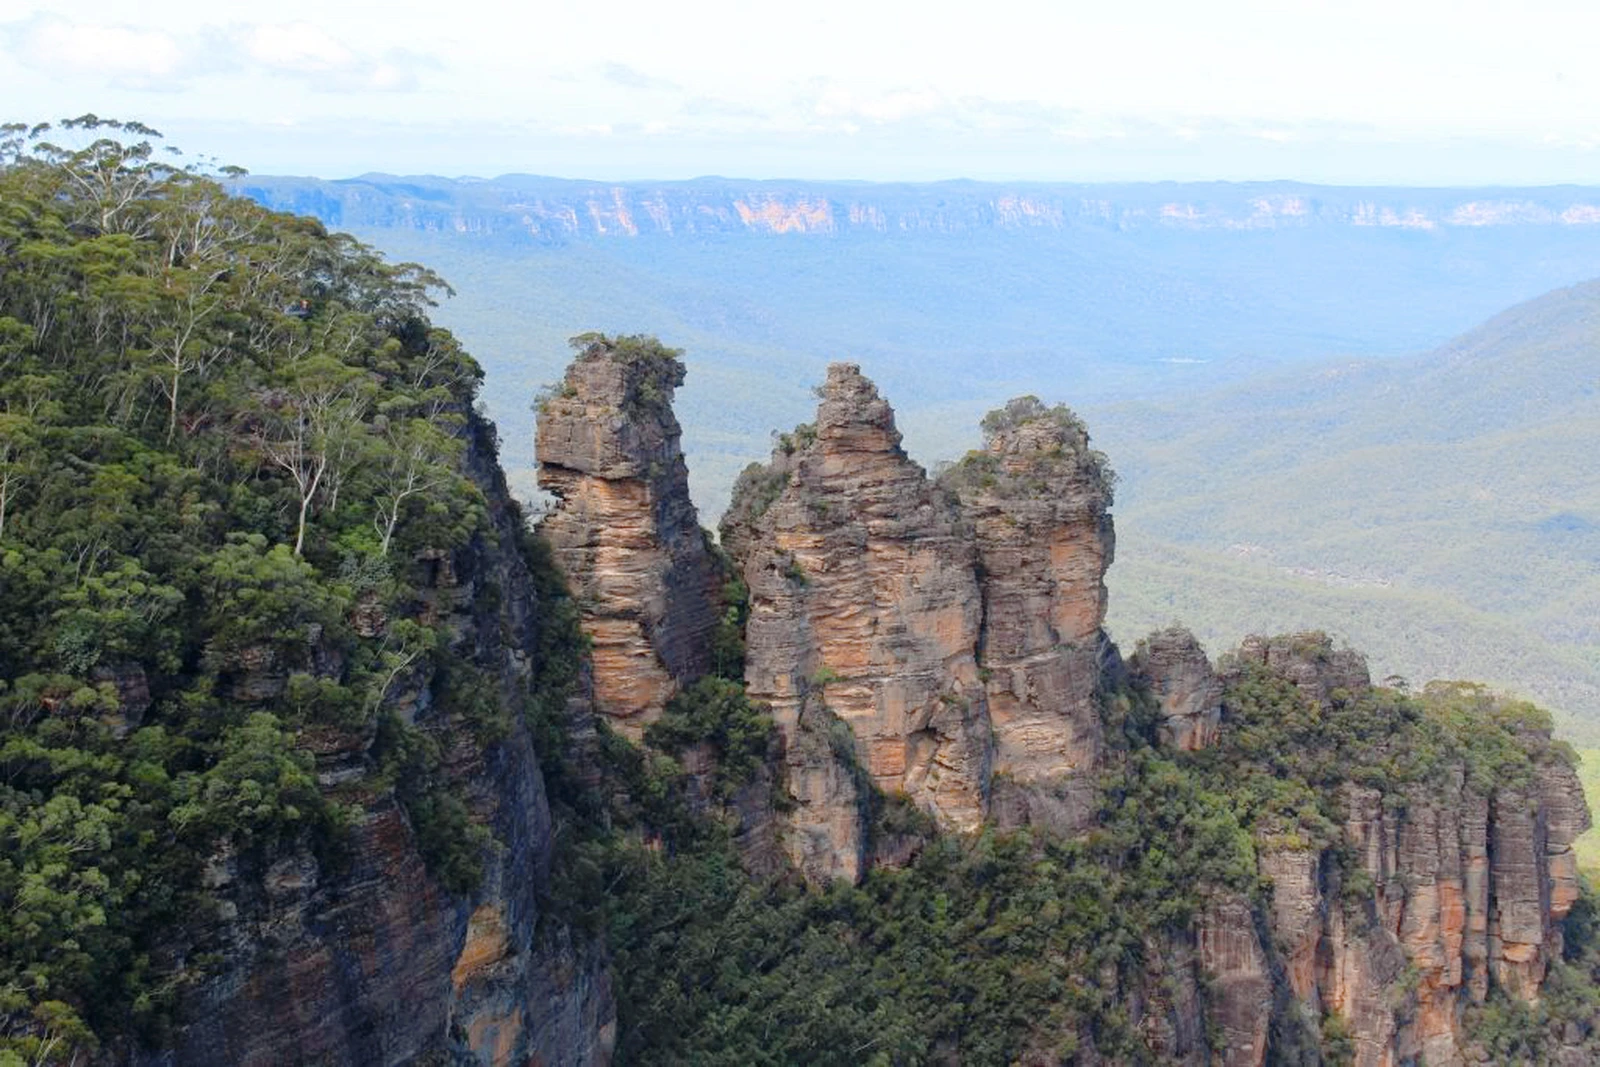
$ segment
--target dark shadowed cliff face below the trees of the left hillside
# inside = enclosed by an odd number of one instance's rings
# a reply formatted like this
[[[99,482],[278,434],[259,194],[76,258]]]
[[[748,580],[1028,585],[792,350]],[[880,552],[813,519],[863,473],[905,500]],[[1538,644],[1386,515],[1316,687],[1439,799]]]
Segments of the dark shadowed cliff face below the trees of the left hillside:
[[[424,613],[454,633],[451,654],[485,670],[509,707],[526,693],[541,627],[538,593],[515,542],[517,514],[474,424],[469,469],[496,518],[498,547],[469,544],[432,560]],[[483,597],[498,587],[501,597]],[[381,617],[360,625],[382,627]],[[272,691],[272,667],[238,691]],[[187,1025],[165,1064],[605,1064],[616,1008],[603,952],[560,923],[541,925],[550,814],[530,734],[514,725],[493,745],[435,707],[438,678],[397,680],[390,707],[427,729],[472,813],[493,829],[483,885],[446,893],[427,872],[411,825],[381,789],[352,827],[347,865],[309,849],[267,869],[219,854],[206,883],[218,917],[197,952],[224,961],[186,997]],[[325,785],[366,793],[366,734],[314,739]]]

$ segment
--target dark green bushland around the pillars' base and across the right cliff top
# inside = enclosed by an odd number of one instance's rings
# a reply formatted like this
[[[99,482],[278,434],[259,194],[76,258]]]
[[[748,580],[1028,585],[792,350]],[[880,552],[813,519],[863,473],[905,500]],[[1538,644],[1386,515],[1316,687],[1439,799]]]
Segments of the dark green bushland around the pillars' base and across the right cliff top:
[[[1163,968],[1171,939],[1208,902],[1264,904],[1258,848],[1338,849],[1344,784],[1395,803],[1411,790],[1435,797],[1464,771],[1467,789],[1490,793],[1526,782],[1541,761],[1570,758],[1539,739],[1547,715],[1472,685],[1334,693],[1325,707],[1246,665],[1227,705],[1214,749],[1174,755],[1152,741],[1147,694],[1109,694],[1117,769],[1101,782],[1098,829],[1080,840],[992,829],[944,837],[902,798],[875,797],[874,833],[922,841],[910,865],[874,870],[856,888],[805,889],[744,873],[736,809],[690,814],[686,798],[706,790],[650,750],[709,744],[728,758],[710,771],[725,803],[731,787],[755,781],[768,739],[760,709],[728,681],[690,689],[650,729],[650,747],[606,742],[605,774],[619,785],[606,814],[579,817],[587,801],[555,800],[560,817],[587,827],[558,861],[560,907],[606,933],[619,1062],[1006,1064],[1070,1056],[1085,1043],[1138,1062],[1149,1053],[1126,1014],[1133,990],[1157,981],[1171,995],[1173,982],[1189,981]],[[827,742],[848,761],[848,726],[827,720]],[[1346,902],[1370,907],[1370,880],[1354,861],[1344,865]],[[1558,968],[1547,1014],[1525,1025],[1522,1009],[1494,1001],[1483,1025],[1506,1029],[1496,1019],[1510,1013],[1517,1033],[1542,1033],[1557,1013],[1581,1014],[1594,985],[1573,958]],[[1205,990],[1195,995],[1203,1001]],[[1576,1006],[1557,1008],[1563,998]],[[1285,1056],[1320,1043],[1333,1062],[1354,1048],[1338,1016],[1290,1013],[1272,1040]],[[1501,1038],[1490,1046],[1510,1048]]]

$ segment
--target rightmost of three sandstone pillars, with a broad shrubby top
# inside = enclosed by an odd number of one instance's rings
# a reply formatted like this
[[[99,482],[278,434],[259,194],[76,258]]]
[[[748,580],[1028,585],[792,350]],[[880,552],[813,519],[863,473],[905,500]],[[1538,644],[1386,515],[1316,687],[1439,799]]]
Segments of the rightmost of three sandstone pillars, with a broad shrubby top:
[[[1106,458],[1067,408],[1021,397],[984,419],[984,448],[941,485],[978,547],[994,768],[1008,785],[1074,797],[1062,829],[1080,829],[1102,747],[1096,694],[1115,545]],[[1037,819],[1038,805],[1027,806]]]

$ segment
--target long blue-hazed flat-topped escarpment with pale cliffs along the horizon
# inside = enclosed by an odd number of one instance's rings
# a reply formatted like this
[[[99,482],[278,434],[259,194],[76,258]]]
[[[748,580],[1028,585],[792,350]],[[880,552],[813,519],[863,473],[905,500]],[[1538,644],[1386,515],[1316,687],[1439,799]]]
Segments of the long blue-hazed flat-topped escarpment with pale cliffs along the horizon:
[[[245,195],[341,227],[408,227],[502,240],[597,237],[885,235],[984,230],[1115,232],[1379,227],[1406,230],[1600,226],[1600,190],[1341,189],[1298,182],[930,184],[731,181],[594,182],[363,174],[246,178]]]

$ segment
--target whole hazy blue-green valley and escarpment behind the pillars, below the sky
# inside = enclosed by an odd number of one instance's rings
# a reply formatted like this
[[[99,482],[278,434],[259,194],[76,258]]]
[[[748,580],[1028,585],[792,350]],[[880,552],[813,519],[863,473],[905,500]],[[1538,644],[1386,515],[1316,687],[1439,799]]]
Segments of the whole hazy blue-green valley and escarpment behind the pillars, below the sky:
[[[1600,291],[1566,288],[1600,277],[1600,189],[238,189],[451,280],[437,320],[483,362],[523,491],[528,403],[586,330],[686,349],[707,523],[832,358],[878,381],[928,466],[1034,392],[1122,474],[1118,640],[1322,625],[1379,677],[1488,675],[1600,737]]]

